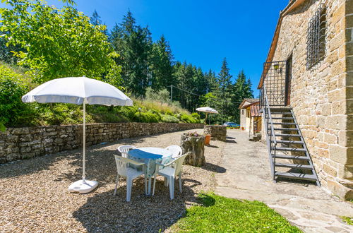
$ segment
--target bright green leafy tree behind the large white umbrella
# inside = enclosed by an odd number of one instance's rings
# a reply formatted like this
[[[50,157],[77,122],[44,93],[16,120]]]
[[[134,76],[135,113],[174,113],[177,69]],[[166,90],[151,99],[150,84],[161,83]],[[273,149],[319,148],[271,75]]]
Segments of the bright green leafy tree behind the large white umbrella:
[[[120,83],[118,56],[101,31],[102,25],[90,24],[89,18],[71,6],[55,8],[44,1],[6,1],[11,8],[1,11],[1,31],[8,44],[25,51],[15,52],[19,64],[38,83],[66,76],[88,76]],[[114,76],[114,77],[112,77]]]

